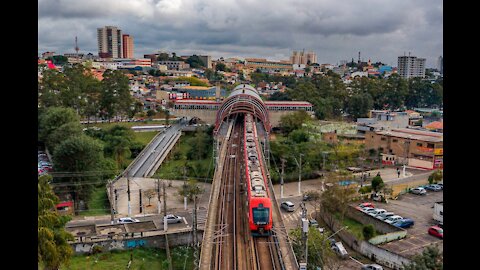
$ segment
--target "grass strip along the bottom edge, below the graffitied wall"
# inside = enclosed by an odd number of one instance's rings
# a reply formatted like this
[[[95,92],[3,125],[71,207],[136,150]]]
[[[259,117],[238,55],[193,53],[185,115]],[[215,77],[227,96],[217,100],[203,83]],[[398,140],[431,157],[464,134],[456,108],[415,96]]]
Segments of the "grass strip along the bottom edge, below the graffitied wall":
[[[193,269],[193,249],[175,247],[171,249],[173,269]],[[61,270],[112,270],[126,269],[130,256],[133,257],[130,269],[168,269],[166,251],[158,248],[135,248],[123,251],[103,252],[95,255],[77,255],[69,266]],[[184,268],[185,265],[185,268]]]

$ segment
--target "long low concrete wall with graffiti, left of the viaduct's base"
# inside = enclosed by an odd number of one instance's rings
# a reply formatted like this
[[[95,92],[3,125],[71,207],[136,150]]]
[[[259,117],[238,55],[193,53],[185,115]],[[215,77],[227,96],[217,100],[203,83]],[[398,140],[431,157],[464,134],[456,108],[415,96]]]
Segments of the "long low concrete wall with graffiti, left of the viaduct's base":
[[[189,245],[192,243],[192,232],[177,232],[168,234],[168,242],[170,247]],[[203,237],[203,231],[197,231],[197,239],[201,243]],[[126,250],[136,247],[156,247],[165,248],[165,235],[154,235],[145,237],[135,237],[127,239],[108,239],[95,242],[76,242],[72,243],[75,253],[82,254],[91,252],[94,246],[101,246],[104,251],[110,250]]]

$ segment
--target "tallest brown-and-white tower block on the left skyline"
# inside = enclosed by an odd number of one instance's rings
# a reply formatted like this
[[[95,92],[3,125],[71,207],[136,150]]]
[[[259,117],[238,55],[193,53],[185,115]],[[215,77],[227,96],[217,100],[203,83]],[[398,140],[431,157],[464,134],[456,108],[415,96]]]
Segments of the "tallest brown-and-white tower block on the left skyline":
[[[122,58],[122,30],[116,26],[97,28],[98,56],[102,58]]]

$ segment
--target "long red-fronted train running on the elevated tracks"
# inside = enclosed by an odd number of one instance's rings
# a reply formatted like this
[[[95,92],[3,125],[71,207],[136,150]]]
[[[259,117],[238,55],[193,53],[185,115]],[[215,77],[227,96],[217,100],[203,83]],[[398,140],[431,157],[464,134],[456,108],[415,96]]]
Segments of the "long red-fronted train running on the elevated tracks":
[[[248,223],[253,236],[267,236],[272,230],[272,202],[267,178],[259,160],[257,129],[251,114],[245,115],[243,152],[246,164]]]

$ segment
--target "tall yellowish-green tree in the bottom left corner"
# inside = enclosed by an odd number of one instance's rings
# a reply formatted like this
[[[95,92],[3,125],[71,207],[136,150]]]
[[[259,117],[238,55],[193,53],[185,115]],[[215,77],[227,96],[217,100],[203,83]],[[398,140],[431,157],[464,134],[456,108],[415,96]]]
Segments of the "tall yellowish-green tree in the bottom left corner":
[[[44,269],[59,269],[60,265],[68,265],[73,249],[69,240],[73,236],[65,231],[68,216],[60,216],[55,210],[58,197],[53,193],[49,182],[50,175],[38,178],[38,263]]]

